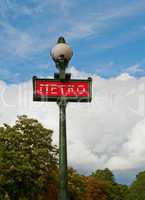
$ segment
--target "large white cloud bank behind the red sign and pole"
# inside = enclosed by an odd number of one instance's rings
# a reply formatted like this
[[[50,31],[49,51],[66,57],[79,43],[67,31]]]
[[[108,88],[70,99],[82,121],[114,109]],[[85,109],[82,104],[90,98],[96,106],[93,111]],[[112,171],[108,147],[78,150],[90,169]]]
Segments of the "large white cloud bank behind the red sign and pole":
[[[75,72],[74,76],[87,74]],[[145,164],[145,77],[129,75],[103,79],[93,75],[92,103],[69,103],[67,137],[69,165],[88,172],[96,168],[140,168]],[[123,78],[122,78],[123,77]],[[54,130],[58,143],[56,103],[32,102],[32,82],[0,82],[0,122],[14,123],[16,116],[36,117]]]

